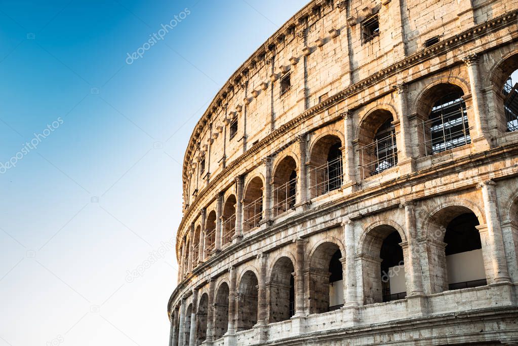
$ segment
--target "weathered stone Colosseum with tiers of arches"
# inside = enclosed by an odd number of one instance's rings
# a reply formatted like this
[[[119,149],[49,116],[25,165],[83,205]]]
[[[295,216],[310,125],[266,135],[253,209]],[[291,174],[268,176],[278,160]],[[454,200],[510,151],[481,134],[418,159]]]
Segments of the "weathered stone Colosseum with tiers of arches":
[[[268,38],[186,143],[169,345],[517,345],[517,15],[313,0]]]

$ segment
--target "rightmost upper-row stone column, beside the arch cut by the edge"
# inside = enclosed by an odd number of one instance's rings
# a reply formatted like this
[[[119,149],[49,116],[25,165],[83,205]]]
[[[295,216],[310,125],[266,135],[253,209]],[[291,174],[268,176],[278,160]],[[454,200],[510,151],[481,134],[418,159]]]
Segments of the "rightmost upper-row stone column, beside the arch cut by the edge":
[[[463,59],[468,68],[469,86],[471,89],[471,102],[473,105],[473,119],[475,133],[471,134],[473,142],[481,141],[481,145],[488,146],[486,138],[486,115],[484,111],[484,99],[480,88],[480,75],[477,54],[470,54]],[[471,125],[471,124],[470,124]]]

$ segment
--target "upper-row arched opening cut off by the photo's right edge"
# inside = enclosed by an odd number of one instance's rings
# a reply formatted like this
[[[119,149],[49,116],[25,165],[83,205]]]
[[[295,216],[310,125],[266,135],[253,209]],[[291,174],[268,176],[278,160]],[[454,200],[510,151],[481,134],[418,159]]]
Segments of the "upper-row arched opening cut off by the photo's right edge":
[[[495,89],[495,113],[498,119],[488,119],[500,132],[518,130],[518,54],[503,61],[492,75]],[[490,125],[490,126],[491,126]]]

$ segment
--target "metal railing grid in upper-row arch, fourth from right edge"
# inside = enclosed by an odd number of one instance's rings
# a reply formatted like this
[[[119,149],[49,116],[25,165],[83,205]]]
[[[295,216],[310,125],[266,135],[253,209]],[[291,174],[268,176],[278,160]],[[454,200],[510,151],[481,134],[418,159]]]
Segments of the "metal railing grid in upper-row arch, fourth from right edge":
[[[319,167],[310,167],[311,196],[317,197],[342,186],[342,157],[339,156]]]

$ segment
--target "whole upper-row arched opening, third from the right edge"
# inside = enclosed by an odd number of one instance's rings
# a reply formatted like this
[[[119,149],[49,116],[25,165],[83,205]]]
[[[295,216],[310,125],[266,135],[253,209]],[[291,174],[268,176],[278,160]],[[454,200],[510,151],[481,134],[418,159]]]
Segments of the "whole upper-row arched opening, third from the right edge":
[[[397,164],[396,130],[392,113],[379,109],[362,122],[358,143],[363,178],[377,175]]]

